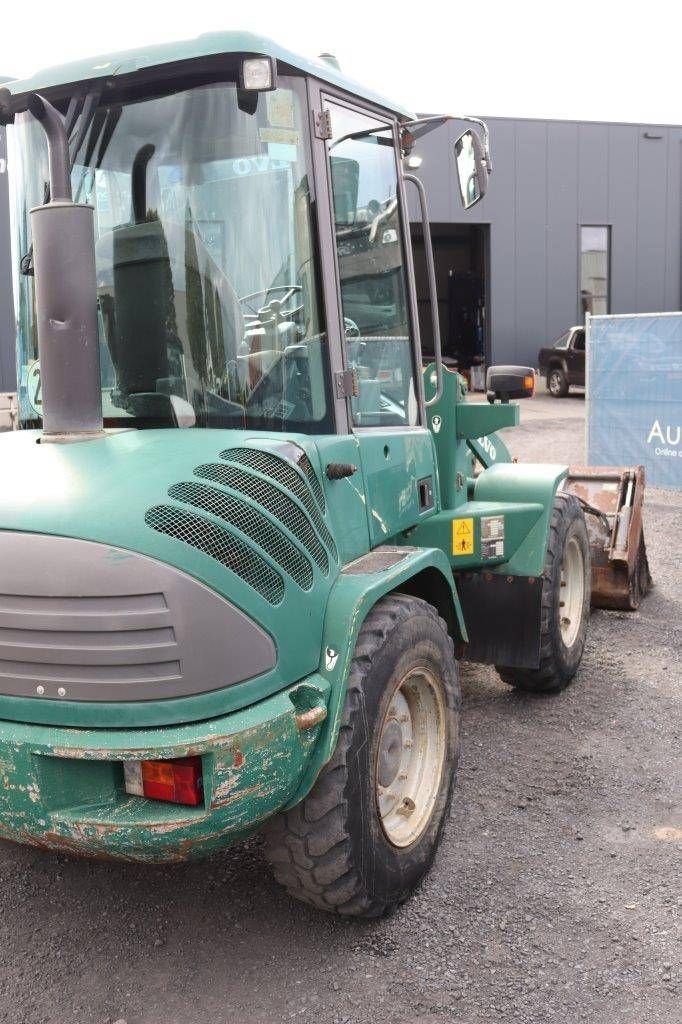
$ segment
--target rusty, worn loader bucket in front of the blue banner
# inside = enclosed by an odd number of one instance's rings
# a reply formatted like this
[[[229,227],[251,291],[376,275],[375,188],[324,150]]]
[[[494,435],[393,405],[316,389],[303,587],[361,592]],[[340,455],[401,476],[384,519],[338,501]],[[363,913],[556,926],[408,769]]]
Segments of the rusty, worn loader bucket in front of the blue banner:
[[[564,489],[583,506],[592,605],[634,611],[652,586],[644,544],[644,467],[572,467]]]

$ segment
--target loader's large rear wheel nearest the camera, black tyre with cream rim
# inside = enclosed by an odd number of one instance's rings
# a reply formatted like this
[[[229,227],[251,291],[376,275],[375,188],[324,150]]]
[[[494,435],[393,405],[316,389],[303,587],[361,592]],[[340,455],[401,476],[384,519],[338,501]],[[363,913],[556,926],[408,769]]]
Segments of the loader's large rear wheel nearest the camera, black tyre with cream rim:
[[[357,918],[408,898],[450,806],[459,707],[453,641],[436,609],[383,598],[357,638],[331,761],[266,830],[265,855],[292,896]]]

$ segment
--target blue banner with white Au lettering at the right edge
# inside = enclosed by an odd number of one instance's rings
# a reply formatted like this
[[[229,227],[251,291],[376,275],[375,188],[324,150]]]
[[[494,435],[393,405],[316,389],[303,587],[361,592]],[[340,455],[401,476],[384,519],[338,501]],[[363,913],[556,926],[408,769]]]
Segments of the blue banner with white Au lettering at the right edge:
[[[682,313],[589,316],[587,398],[590,466],[682,489]]]

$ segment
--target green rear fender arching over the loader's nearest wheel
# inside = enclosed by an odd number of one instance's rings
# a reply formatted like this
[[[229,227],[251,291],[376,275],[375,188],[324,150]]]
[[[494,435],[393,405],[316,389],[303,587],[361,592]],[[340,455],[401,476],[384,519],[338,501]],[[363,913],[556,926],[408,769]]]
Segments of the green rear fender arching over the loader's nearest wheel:
[[[372,569],[384,561],[384,556],[395,559],[384,568]],[[432,574],[439,583],[439,594],[446,595],[451,603],[452,620],[459,639],[468,640],[460,600],[455,589],[447,558],[437,548],[379,547],[344,566],[327,602],[319,669],[316,678],[323,677],[331,687],[327,719],[312,754],[306,773],[287,808],[294,807],[312,788],[317,775],[332,757],[339,735],[343,703],[346,696],[350,663],[357,636],[374,605],[386,594],[400,590],[415,592],[414,584],[420,575]],[[413,585],[413,586],[411,586]],[[447,608],[439,608],[447,615]]]

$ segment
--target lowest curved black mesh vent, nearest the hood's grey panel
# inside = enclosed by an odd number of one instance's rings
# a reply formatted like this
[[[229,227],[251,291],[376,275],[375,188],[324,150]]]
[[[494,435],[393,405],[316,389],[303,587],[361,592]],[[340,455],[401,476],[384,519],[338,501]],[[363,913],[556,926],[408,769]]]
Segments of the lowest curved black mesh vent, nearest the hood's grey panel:
[[[258,552],[247,547],[222,526],[169,505],[157,505],[148,509],[144,522],[152,529],[183,541],[226,565],[270,604],[279,604],[284,598],[284,580],[280,573]]]

